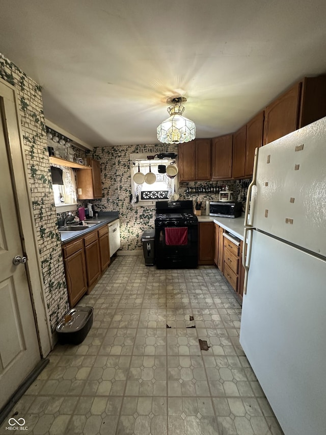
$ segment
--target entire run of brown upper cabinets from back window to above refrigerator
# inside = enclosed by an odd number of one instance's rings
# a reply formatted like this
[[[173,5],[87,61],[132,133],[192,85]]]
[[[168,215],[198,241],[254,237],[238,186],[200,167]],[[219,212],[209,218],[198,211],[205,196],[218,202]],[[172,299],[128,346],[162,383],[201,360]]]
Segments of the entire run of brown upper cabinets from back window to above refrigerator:
[[[250,178],[256,148],[323,116],[326,116],[326,74],[305,77],[233,135],[179,144],[179,181]]]

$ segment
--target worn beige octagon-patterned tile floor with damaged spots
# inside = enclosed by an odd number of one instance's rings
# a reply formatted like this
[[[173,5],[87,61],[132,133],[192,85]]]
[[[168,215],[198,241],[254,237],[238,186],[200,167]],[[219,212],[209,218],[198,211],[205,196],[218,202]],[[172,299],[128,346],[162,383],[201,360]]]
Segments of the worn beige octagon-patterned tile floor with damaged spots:
[[[24,433],[283,433],[239,344],[237,297],[214,266],[117,257],[80,305],[93,306],[93,327],[79,346],[55,347],[14,407]]]

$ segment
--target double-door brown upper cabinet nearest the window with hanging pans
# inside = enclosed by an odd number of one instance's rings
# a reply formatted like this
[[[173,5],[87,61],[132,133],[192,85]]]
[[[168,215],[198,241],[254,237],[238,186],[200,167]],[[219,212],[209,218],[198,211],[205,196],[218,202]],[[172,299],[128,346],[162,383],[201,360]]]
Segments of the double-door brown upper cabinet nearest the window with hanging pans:
[[[208,181],[211,174],[210,139],[195,139],[180,143],[179,181]]]

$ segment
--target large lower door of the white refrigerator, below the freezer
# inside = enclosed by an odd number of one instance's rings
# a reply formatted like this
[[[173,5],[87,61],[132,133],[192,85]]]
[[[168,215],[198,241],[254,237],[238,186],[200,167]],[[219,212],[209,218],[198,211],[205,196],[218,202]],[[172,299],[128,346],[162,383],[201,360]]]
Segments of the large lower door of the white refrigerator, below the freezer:
[[[326,262],[253,232],[240,343],[286,435],[326,427]]]

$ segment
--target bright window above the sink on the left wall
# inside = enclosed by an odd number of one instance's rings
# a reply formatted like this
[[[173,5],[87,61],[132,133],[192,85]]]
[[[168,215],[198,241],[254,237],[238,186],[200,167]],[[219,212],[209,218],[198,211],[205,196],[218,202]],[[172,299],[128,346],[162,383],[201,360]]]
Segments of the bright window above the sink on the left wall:
[[[60,208],[57,212],[66,211],[66,207],[70,210],[70,206],[76,206],[77,195],[76,195],[76,183],[73,170],[71,168],[60,166],[62,169],[62,180],[63,185],[52,184],[52,190],[55,197],[56,208]],[[68,210],[68,211],[69,211]]]

